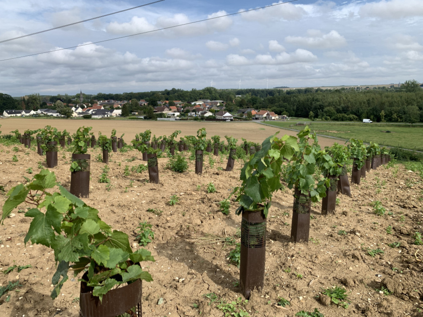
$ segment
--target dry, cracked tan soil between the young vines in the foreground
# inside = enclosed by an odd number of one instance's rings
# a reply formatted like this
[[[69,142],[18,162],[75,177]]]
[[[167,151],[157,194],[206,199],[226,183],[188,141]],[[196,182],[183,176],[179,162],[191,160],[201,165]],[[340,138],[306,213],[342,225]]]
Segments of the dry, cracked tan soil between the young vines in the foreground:
[[[28,174],[28,168],[39,172],[38,161],[45,165],[44,157],[37,155],[35,147],[17,148],[15,152],[0,145],[0,185],[6,191],[18,182],[25,182],[23,176],[34,175]],[[211,168],[205,156],[203,174],[196,175],[193,161],[189,162],[188,171],[180,174],[165,169],[168,158],[159,158],[161,183],[157,185],[145,183],[147,171],[124,176],[125,165],[132,167],[145,162],[135,150],[117,152],[110,158],[112,188],[107,191],[106,184],[98,183],[104,167],[95,159],[100,149],[90,149],[89,153],[91,193],[85,202],[97,208],[102,220],[114,229],[126,232],[134,250],[139,247],[135,241],[139,222],[148,221],[153,226],[155,237],[146,249],[156,262],[144,264],[154,279],[143,283],[144,316],[224,316],[216,303],[208,305],[203,295],[214,292],[228,302],[242,296],[237,286],[239,269],[227,260],[234,246],[201,244],[205,240],[196,239],[217,235],[234,237],[239,242],[236,232],[241,217],[234,214],[236,204],[231,202],[231,213],[225,216],[218,210],[218,202],[239,184],[243,162],[237,161],[232,172],[225,172],[219,167],[225,168],[226,157],[216,158]],[[13,155],[17,162],[12,161]],[[131,161],[133,157],[135,160]],[[58,167],[51,169],[68,189],[70,160],[71,153],[61,149]],[[207,193],[210,182],[216,193]],[[321,204],[313,205],[310,242],[297,244],[290,241],[292,192],[278,191],[267,221],[264,289],[252,293],[244,307],[246,311],[252,317],[293,317],[301,310],[312,312],[314,308],[325,317],[422,317],[419,310],[423,310],[423,246],[413,244],[412,238],[415,232],[423,233],[422,189],[420,176],[403,165],[379,167],[367,173],[359,186],[351,187],[352,197],[339,196],[335,216],[322,216]],[[167,202],[173,194],[179,203],[170,206]],[[0,207],[5,199],[1,198]],[[374,200],[381,201],[386,208],[384,216],[372,212]],[[148,212],[148,208],[157,208],[162,213],[156,215]],[[0,268],[5,271],[12,265],[28,264],[32,268],[20,273],[16,269],[7,275],[0,273],[1,286],[16,279],[22,285],[8,293],[10,301],[5,302],[8,294],[0,298],[0,316],[77,317],[80,276],[69,276],[62,294],[53,301],[49,295],[55,272],[54,255],[44,246],[24,245],[30,219],[19,210],[13,213],[0,227]],[[392,227],[390,234],[388,226]],[[346,234],[338,235],[340,230]],[[401,246],[387,246],[393,242],[400,242]],[[365,248],[379,248],[384,253],[371,257]],[[332,286],[346,288],[351,301],[348,309],[334,303],[325,306],[316,298],[322,288]],[[393,294],[383,295],[376,290],[382,286]],[[274,306],[278,296],[290,301],[290,305],[285,309]],[[158,304],[160,298],[163,301]]]

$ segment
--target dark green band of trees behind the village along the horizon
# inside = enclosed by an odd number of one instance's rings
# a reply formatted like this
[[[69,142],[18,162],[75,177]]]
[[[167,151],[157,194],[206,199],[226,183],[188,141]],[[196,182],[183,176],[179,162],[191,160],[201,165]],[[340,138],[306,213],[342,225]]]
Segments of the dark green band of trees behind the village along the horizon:
[[[50,101],[79,102],[75,96],[52,96]],[[66,98],[65,98],[66,97]],[[45,100],[45,96],[42,97]],[[67,99],[67,100],[66,100]],[[76,100],[75,100],[76,99]],[[241,108],[267,109],[278,115],[323,120],[362,120],[367,118],[376,122],[423,122],[423,89],[415,80],[407,81],[401,87],[378,87],[377,89],[356,90],[341,88],[323,90],[314,88],[280,89],[230,89],[218,90],[206,87],[202,90],[171,89],[141,93],[84,95],[84,102],[94,100],[140,101],[150,104],[157,101],[192,102],[198,99],[222,100],[228,111]],[[0,110],[19,109],[22,101],[0,93]],[[13,107],[15,105],[15,108]],[[129,105],[130,111],[137,110],[135,102]],[[140,109],[140,108],[138,108]]]

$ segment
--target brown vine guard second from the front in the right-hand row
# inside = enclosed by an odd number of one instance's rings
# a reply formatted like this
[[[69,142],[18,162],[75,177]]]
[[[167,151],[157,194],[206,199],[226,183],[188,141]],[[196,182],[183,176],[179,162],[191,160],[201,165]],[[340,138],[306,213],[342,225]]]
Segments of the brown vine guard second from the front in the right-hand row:
[[[308,243],[310,234],[310,192],[307,195],[295,189],[292,208],[291,240]]]

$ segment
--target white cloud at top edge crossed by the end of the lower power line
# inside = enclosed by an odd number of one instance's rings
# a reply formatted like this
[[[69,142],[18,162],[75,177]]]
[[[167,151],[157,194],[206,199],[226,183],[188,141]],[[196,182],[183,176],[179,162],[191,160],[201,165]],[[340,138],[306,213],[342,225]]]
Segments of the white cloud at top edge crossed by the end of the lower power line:
[[[283,2],[279,1],[277,3]],[[239,11],[245,11],[245,9]],[[241,14],[243,19],[262,23],[267,23],[269,20],[299,20],[305,15],[306,11],[301,6],[293,5],[291,3],[275,5],[269,8],[249,11]]]

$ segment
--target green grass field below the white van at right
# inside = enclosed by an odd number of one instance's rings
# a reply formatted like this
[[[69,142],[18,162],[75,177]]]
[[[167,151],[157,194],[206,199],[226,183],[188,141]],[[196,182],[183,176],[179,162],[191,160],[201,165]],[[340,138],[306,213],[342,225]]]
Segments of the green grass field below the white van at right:
[[[291,128],[297,130],[304,128],[304,126],[295,126],[295,122],[266,121],[267,124],[280,128]],[[310,122],[310,120],[307,122]],[[324,134],[343,139],[362,139],[365,142],[373,141],[379,145],[399,146],[400,148],[423,151],[422,125],[413,125],[410,128],[409,125],[394,123],[312,122],[310,128],[313,131],[316,131],[317,134]],[[390,133],[386,131],[390,131]]]

